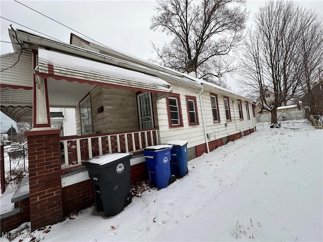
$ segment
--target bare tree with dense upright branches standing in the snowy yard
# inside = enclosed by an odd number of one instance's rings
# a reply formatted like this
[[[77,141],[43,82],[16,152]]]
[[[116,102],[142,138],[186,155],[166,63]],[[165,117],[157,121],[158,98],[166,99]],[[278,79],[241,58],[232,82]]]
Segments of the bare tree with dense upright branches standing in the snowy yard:
[[[277,108],[302,91],[298,50],[311,16],[311,12],[286,1],[270,1],[255,15],[255,29],[250,31],[242,60],[246,80],[240,85],[254,90],[263,107],[271,111],[273,124],[277,123]],[[270,102],[264,98],[267,90],[274,94]]]

